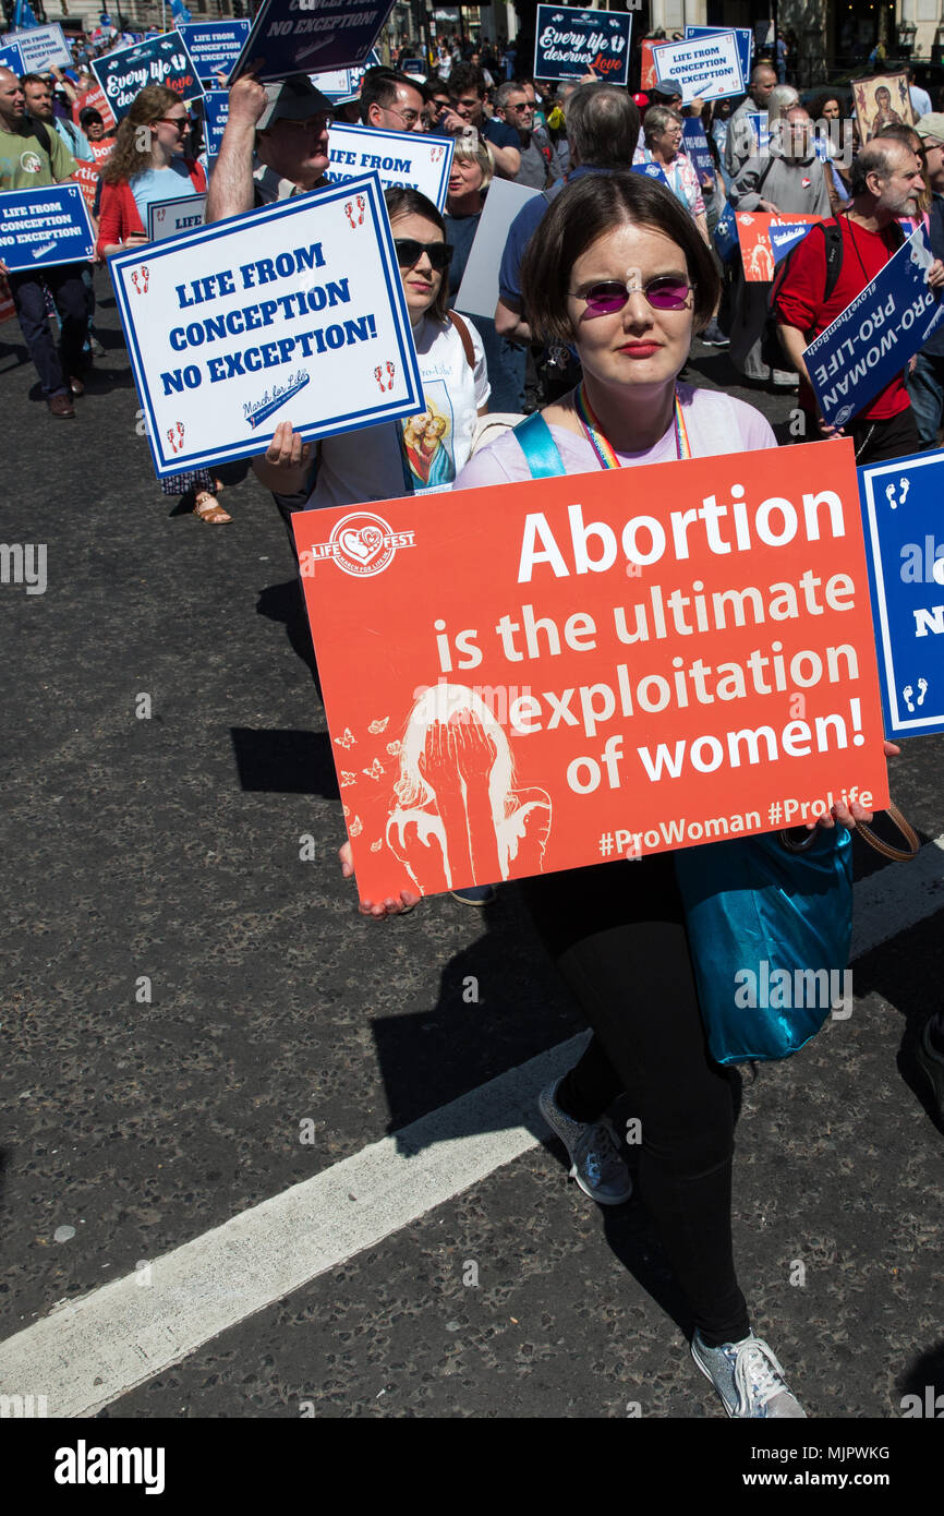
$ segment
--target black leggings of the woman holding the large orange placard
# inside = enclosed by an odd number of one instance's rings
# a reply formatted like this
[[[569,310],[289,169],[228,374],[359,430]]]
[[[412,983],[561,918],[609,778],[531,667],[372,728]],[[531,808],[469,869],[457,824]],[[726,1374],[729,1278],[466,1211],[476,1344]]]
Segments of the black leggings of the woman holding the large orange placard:
[[[626,1092],[641,1122],[639,1198],[711,1346],[750,1331],[730,1236],[733,1098],[711,1058],[670,854],[523,881],[592,1026],[558,1098],[595,1120]]]

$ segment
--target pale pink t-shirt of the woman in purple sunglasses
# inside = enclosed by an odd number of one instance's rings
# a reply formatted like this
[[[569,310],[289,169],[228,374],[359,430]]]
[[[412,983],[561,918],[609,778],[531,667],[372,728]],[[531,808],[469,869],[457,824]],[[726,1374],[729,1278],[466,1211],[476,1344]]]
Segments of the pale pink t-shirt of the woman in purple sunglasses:
[[[682,415],[688,431],[692,458],[711,458],[717,453],[753,453],[761,447],[776,447],[770,423],[753,405],[735,400],[723,390],[692,390],[679,385]],[[577,437],[562,426],[550,429],[565,471],[592,473],[600,467],[597,455],[586,437]],[[677,458],[674,424],[668,428],[655,447],[644,453],[617,453],[623,468],[632,464],[667,464]],[[530,479],[524,453],[515,435],[505,432],[495,443],[465,464],[453,490],[476,490],[488,484],[518,484]]]

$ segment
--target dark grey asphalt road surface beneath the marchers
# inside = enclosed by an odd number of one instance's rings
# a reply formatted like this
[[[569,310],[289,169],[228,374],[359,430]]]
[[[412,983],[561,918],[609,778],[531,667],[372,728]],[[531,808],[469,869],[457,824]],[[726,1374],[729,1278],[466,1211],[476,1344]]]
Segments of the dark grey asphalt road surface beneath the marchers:
[[[539,1122],[527,1069],[583,1023],[517,888],[483,913],[359,917],[283,525],[252,476],[223,496],[230,526],[161,494],[102,273],[97,290],[108,356],[73,421],[0,327],[3,541],[47,549],[44,593],[0,585],[0,1366],[70,1304],[136,1273],[144,1293],[174,1249],[320,1176],[327,1196],[376,1149],[380,1190],[403,1152],[430,1160],[412,1196],[391,1189],[386,1236],[355,1226],[347,1252],[344,1193],[318,1199],[333,1255],[267,1295],[261,1222],[253,1287],[227,1292],[212,1336],[98,1373],[86,1414],[723,1419],[642,1208],[586,1201]],[[689,377],[786,440],[796,400],[738,388],[723,352],[697,344]],[[741,1283],[811,1417],[896,1419],[944,1392],[944,1132],[912,1054],[941,998],[942,753],[923,738],[892,763],[932,867],[856,958],[853,1014],[741,1081]],[[911,899],[909,867],[856,844],[877,920]],[[389,1142],[405,1129],[412,1148]],[[439,1139],[459,1167],[436,1166]],[[0,1392],[64,1414],[74,1372],[0,1372]]]

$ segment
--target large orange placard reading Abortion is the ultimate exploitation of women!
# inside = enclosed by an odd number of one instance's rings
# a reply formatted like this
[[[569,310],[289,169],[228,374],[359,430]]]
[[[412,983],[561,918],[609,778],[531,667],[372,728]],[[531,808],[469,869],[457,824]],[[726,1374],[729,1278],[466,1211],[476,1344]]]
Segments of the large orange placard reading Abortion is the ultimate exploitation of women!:
[[[292,523],[362,899],[888,803],[849,441]]]

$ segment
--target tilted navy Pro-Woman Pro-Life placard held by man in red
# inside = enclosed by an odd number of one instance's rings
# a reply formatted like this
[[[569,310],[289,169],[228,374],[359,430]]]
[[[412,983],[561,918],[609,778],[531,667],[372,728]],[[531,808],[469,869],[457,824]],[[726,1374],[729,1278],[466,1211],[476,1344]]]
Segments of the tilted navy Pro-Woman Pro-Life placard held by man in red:
[[[938,330],[944,303],[927,287],[933,253],[923,226],[803,353],[823,420],[844,426]]]

